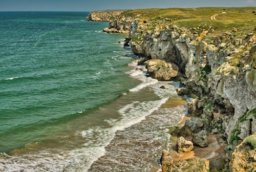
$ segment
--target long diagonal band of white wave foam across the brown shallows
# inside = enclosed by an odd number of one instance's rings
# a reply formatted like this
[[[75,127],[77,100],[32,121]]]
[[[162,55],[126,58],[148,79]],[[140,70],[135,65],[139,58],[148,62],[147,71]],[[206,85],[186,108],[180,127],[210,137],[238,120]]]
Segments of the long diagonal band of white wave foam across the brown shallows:
[[[84,141],[86,142],[84,143],[85,147],[95,147],[101,149],[101,154],[97,154],[97,149],[94,150],[94,153],[92,153],[94,156],[89,161],[91,164],[87,163],[85,169],[90,169],[90,166],[105,154],[105,147],[111,143],[117,131],[123,131],[125,128],[131,127],[132,125],[141,122],[145,119],[146,116],[158,110],[159,107],[167,101],[167,99],[168,98],[156,101],[132,102],[131,104],[123,106],[119,110],[119,113],[122,116],[121,119],[105,120],[111,125],[111,127],[104,128],[95,126],[89,128],[86,131],[82,131],[81,135],[84,137]]]

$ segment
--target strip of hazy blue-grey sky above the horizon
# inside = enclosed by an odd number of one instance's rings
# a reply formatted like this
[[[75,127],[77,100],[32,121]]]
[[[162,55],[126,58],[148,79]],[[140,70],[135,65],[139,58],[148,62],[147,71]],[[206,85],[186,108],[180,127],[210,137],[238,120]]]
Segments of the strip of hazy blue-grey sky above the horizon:
[[[256,0],[0,0],[0,11],[93,11],[246,6],[256,6]]]

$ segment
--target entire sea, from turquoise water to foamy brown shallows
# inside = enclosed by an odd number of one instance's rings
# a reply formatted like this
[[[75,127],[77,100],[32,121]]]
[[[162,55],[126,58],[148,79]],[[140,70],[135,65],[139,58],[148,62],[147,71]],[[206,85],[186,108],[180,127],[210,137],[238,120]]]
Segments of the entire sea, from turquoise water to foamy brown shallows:
[[[0,12],[0,171],[158,171],[186,107],[88,12]],[[165,89],[160,89],[164,86]]]

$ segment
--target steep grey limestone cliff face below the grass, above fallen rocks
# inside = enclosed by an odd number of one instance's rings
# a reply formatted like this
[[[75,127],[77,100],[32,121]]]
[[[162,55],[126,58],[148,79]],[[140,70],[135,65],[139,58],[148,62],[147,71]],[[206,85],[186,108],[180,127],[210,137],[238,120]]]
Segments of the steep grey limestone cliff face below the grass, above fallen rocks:
[[[238,128],[241,126],[239,119],[256,107],[255,31],[238,39],[234,29],[207,44],[189,29],[166,26],[141,35],[137,32],[139,26],[137,20],[133,20],[130,29],[132,51],[142,57],[175,63],[198,94],[224,106],[223,128],[228,142],[232,141],[233,135],[243,140],[256,132],[255,114],[246,120],[250,120],[250,124],[244,131]],[[138,38],[137,35],[141,36]],[[240,131],[234,134],[236,130]]]

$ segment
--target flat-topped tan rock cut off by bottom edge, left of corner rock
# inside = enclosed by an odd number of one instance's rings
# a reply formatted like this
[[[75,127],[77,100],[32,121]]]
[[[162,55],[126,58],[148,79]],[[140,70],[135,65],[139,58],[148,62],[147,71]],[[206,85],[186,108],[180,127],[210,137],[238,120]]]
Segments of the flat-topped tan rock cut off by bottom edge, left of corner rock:
[[[172,170],[168,171],[179,171],[179,172],[208,172],[209,171],[209,161],[206,159],[201,159],[194,157],[191,159],[174,161],[171,166]]]

